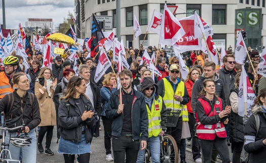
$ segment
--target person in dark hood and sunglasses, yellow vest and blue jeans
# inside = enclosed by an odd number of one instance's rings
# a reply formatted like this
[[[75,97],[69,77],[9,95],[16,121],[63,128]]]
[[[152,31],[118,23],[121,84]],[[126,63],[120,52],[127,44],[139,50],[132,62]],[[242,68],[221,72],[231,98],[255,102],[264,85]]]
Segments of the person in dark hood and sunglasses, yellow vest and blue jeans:
[[[163,98],[158,95],[158,86],[151,77],[143,78],[141,91],[145,96],[148,114],[148,138],[147,143],[151,151],[151,161],[160,163],[161,143],[160,137],[166,131],[166,107]],[[145,150],[138,151],[136,163],[144,161]]]

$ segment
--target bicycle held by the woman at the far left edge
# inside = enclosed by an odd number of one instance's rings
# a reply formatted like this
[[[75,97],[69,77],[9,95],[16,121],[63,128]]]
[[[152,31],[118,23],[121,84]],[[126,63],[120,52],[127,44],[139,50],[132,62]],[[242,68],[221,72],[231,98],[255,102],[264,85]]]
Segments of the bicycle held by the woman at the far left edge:
[[[9,143],[5,143],[6,131],[11,132],[11,131],[16,131],[16,130],[20,130],[20,129],[24,130],[25,125],[14,127],[14,128],[0,127],[0,131],[3,131],[3,134],[0,134],[0,139],[2,139],[1,152],[0,152],[0,162],[1,163],[2,162],[6,163],[6,162],[10,162],[10,161],[20,163],[20,160],[12,159],[10,150],[6,149],[6,146],[9,147],[11,140],[9,141]],[[16,139],[16,138],[14,138],[14,139]],[[21,141],[19,138],[17,138],[15,141],[19,141],[20,143],[23,143],[23,141]],[[26,145],[28,145],[28,143],[26,143],[25,146]]]

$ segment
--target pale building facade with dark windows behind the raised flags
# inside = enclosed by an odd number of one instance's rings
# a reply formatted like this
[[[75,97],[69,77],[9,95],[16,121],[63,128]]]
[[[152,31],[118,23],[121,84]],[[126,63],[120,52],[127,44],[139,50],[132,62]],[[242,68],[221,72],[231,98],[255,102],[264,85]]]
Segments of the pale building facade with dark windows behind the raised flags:
[[[121,39],[127,47],[139,48],[150,22],[153,11],[163,12],[165,1],[162,0],[121,0]],[[235,46],[236,10],[237,9],[260,9],[259,23],[261,36],[259,43],[252,44],[253,48],[260,49],[266,44],[266,9],[265,0],[169,0],[168,5],[178,6],[176,18],[181,19],[192,14],[193,11],[202,17],[214,31],[213,40],[217,48],[221,43],[225,47]],[[86,37],[91,35],[91,15],[113,16],[113,28],[116,28],[116,1],[115,0],[86,0],[85,1],[85,30]],[[187,14],[182,14],[187,13]],[[189,14],[190,13],[190,14]],[[142,35],[133,41],[133,17],[136,16]],[[106,30],[108,31],[108,30]],[[249,33],[247,32],[247,38]],[[158,46],[159,35],[154,32],[147,32],[143,46]],[[247,42],[246,42],[247,44]],[[248,46],[248,44],[247,44]],[[164,46],[160,46],[164,47]]]

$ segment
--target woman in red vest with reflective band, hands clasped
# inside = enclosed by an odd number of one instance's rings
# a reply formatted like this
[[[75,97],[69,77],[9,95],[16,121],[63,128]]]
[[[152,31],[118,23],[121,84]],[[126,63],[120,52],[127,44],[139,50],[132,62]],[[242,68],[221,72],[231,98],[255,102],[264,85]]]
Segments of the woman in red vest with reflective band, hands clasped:
[[[211,162],[212,148],[215,147],[222,162],[230,163],[224,124],[228,122],[231,106],[225,106],[223,100],[215,94],[214,80],[205,79],[203,86],[196,104],[196,133],[202,149],[203,162]]]

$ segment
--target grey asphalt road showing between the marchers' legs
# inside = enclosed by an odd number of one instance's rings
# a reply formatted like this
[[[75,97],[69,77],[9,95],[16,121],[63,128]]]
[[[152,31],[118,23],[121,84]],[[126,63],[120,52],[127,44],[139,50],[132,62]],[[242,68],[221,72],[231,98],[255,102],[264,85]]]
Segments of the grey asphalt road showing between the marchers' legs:
[[[92,144],[91,144],[91,158],[90,162],[91,163],[107,163],[109,161],[105,160],[105,148],[104,148],[104,132],[103,132],[103,125],[101,125],[102,130],[100,131],[100,136],[97,138],[93,138]],[[46,138],[44,138],[43,141],[43,146],[45,147],[45,141]],[[56,128],[54,128],[54,133],[53,133],[53,139],[51,143],[51,150],[54,152],[54,155],[46,155],[44,153],[40,153],[37,151],[37,162],[39,163],[59,163],[59,162],[64,162],[63,154],[59,154],[57,152],[58,149],[58,144],[56,143],[57,138],[56,138]],[[37,149],[36,149],[37,150]],[[231,146],[229,146],[229,151],[230,151],[230,158],[232,160],[232,153],[231,153]],[[111,161],[113,162],[113,161]],[[192,152],[191,152],[191,146],[186,147],[186,162],[195,162],[192,157]],[[221,162],[221,161],[217,161]],[[26,163],[26,162],[25,162]]]

